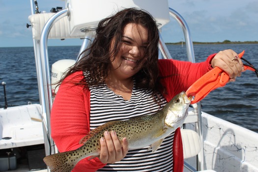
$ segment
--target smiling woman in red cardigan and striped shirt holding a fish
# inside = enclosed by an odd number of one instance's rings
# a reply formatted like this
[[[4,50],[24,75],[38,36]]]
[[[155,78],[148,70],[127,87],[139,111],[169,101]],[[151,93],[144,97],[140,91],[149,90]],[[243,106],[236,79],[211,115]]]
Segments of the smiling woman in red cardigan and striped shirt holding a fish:
[[[212,67],[225,70],[231,81],[243,70],[232,50],[201,63],[158,60],[158,41],[155,20],[140,9],[124,9],[99,23],[90,53],[68,71],[53,104],[52,138],[60,152],[82,146],[81,138],[108,121],[154,114]],[[183,169],[180,129],[154,153],[148,147],[128,151],[126,138],[120,143],[115,131],[104,136],[100,156],[83,159],[73,172]]]

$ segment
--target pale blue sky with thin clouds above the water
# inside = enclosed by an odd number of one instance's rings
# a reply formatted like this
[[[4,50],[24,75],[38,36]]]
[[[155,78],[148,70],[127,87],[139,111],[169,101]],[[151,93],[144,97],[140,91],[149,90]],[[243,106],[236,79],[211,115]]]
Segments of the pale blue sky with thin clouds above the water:
[[[52,7],[64,7],[62,0],[37,0],[39,10],[49,12]],[[169,0],[171,8],[186,20],[193,41],[258,41],[258,0]],[[31,28],[27,29],[31,14],[30,0],[0,0],[0,47],[33,46]],[[179,42],[183,34],[171,22],[164,26],[165,42]],[[48,45],[81,45],[81,40],[50,40]]]

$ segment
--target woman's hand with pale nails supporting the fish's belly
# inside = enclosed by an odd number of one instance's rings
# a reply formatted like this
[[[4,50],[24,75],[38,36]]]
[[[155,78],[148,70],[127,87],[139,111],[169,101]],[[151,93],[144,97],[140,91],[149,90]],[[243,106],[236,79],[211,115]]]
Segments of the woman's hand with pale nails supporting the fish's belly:
[[[115,131],[105,131],[105,138],[100,139],[100,155],[99,160],[103,164],[115,163],[125,157],[128,152],[128,142],[126,138],[119,141]]]

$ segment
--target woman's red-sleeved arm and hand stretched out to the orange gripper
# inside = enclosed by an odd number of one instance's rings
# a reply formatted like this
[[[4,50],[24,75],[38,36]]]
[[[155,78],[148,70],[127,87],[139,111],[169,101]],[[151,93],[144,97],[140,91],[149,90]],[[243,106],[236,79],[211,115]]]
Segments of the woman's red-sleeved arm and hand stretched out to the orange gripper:
[[[243,63],[240,58],[232,60],[237,54],[232,50],[224,50],[218,54],[210,55],[205,61],[191,63],[179,60],[159,60],[160,77],[163,85],[169,87],[166,90],[171,95],[186,91],[202,75],[213,67],[220,67],[229,74],[230,81],[240,76]]]

